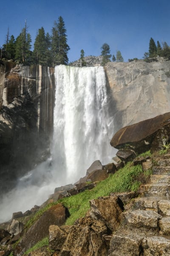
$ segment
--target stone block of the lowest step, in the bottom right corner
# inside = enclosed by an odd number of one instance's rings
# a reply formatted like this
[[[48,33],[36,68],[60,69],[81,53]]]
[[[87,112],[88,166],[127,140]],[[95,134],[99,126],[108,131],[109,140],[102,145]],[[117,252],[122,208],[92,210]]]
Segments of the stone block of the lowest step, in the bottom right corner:
[[[146,237],[142,241],[142,248],[143,256],[170,256],[170,239],[162,236]]]

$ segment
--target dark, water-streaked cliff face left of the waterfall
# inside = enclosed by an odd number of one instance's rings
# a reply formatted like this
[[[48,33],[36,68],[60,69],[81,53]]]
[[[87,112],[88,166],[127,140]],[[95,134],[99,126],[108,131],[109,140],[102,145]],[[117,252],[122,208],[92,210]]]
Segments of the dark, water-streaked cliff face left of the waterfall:
[[[0,65],[0,192],[50,154],[54,69]]]

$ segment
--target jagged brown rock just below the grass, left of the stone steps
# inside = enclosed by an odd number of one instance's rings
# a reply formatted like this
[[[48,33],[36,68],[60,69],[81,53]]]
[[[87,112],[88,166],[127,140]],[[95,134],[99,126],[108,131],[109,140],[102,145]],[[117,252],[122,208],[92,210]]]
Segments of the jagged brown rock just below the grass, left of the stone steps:
[[[90,201],[90,205],[89,215],[91,218],[103,221],[110,230],[115,230],[119,225],[120,214],[122,213],[117,197],[93,199]]]

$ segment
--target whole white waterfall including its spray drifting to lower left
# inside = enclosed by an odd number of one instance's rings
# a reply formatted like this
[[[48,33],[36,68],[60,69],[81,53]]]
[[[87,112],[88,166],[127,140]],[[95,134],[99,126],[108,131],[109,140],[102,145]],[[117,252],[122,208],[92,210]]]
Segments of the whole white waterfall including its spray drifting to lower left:
[[[56,99],[51,159],[18,180],[18,186],[1,198],[0,223],[13,212],[40,205],[58,186],[75,183],[88,167],[109,163],[114,149],[113,116],[103,67],[55,67]]]

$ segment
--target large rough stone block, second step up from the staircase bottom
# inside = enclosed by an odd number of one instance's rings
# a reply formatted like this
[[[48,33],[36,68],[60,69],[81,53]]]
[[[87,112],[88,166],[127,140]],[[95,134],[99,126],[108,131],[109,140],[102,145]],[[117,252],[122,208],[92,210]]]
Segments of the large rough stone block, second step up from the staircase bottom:
[[[122,226],[157,228],[162,216],[152,210],[133,210],[122,212],[120,218]]]

